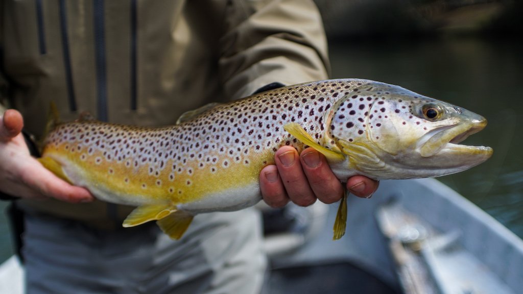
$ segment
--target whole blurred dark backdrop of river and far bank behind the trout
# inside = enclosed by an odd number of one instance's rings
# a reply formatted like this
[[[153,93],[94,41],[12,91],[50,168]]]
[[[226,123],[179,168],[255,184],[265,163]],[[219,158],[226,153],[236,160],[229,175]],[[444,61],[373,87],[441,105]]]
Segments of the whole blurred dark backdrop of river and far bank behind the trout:
[[[333,78],[401,85],[487,118],[466,143],[492,146],[492,159],[439,179],[523,238],[523,1],[315,1]],[[8,236],[0,213],[0,262]]]

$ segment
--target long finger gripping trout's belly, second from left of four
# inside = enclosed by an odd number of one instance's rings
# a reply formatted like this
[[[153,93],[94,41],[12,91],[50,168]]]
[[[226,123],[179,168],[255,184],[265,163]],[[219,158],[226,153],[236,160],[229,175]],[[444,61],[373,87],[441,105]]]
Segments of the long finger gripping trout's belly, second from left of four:
[[[299,158],[298,152],[291,146],[282,146],[275,154],[278,173],[287,195],[297,205],[309,206],[316,201],[316,196],[309,186]]]

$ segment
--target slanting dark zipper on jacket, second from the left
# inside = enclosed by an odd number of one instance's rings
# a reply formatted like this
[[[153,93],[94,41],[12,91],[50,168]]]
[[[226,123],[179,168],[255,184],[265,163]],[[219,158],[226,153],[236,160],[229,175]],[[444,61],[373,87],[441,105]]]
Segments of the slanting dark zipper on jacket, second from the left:
[[[65,7],[65,2],[66,0],[60,0],[62,51],[64,58],[65,83],[67,85],[67,98],[69,99],[69,109],[74,112],[77,108],[73,85],[73,71],[71,69],[71,55],[69,53],[69,36],[67,36],[67,7]]]

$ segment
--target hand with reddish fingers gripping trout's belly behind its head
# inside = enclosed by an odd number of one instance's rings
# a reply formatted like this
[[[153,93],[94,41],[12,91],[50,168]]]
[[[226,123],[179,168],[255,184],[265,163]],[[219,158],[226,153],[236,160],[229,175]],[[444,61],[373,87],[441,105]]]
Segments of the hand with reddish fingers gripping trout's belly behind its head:
[[[298,152],[282,146],[275,154],[276,165],[264,167],[259,175],[261,195],[271,207],[283,207],[289,201],[299,206],[312,205],[316,199],[334,203],[342,198],[343,186],[331,171],[325,156],[312,148]],[[347,180],[348,191],[369,198],[379,182],[365,176]]]

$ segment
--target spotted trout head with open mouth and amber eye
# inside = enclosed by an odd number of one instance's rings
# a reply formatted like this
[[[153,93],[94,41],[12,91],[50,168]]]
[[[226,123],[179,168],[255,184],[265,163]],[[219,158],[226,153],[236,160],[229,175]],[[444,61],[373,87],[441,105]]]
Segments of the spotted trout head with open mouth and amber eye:
[[[437,177],[486,161],[493,150],[459,144],[486,126],[467,109],[399,86],[368,82],[338,100],[327,138],[374,178]]]

